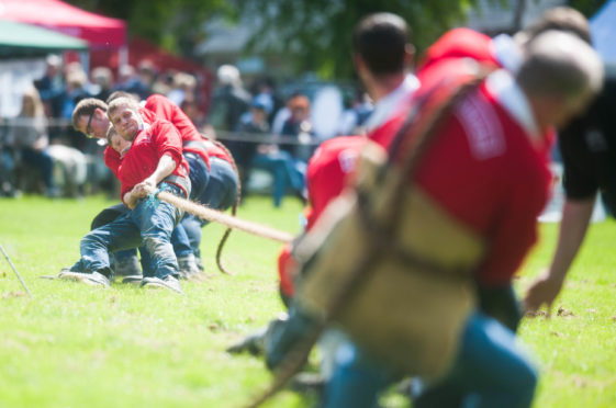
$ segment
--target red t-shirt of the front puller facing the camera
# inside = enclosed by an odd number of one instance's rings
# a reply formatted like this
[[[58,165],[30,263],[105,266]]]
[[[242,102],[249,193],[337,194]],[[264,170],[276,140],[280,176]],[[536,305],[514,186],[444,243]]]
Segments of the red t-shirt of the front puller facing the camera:
[[[164,155],[171,156],[176,161],[172,174],[188,177],[188,163],[182,157],[180,134],[170,122],[159,120],[150,125],[146,124],[145,128],[137,133],[117,168],[116,174],[122,182],[122,200],[136,184],[152,175]]]

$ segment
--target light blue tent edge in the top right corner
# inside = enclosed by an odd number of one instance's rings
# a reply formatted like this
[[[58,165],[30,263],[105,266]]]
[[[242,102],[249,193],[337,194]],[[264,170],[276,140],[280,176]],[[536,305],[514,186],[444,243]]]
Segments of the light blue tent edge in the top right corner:
[[[616,0],[608,0],[591,18],[593,45],[608,65],[616,65]]]

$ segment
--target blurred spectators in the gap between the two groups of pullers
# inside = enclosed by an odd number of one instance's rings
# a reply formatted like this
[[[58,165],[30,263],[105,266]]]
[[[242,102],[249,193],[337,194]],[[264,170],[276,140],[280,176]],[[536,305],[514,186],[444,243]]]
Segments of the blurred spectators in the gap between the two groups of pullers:
[[[294,90],[282,102],[281,92],[269,78],[256,80],[247,90],[238,69],[231,65],[219,68],[217,80],[209,124],[235,158],[243,185],[248,186],[244,195],[249,192],[253,170],[266,171],[271,175],[277,207],[289,193],[305,201],[306,163],[316,147],[333,136],[361,133],[360,126],[372,109],[358,92],[348,98],[337,131],[318,135],[314,125],[321,118],[312,114],[307,92]]]

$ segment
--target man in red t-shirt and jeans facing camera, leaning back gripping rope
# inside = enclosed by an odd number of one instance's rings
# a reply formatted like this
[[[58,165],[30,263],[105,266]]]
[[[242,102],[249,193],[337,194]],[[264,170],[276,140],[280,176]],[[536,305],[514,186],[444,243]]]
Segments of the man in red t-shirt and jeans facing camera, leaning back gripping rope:
[[[167,121],[145,123],[138,105],[130,99],[120,98],[112,102],[108,114],[120,136],[132,141],[115,169],[122,182],[122,201],[132,211],[81,240],[80,263],[86,272],[67,271],[59,276],[108,286],[112,277],[109,252],[143,243],[152,258],[148,264],[153,275],[144,277],[142,285],[182,293],[169,240],[181,212],[169,203],[153,205],[145,200],[157,186],[189,196],[188,163],[182,157],[179,133]]]

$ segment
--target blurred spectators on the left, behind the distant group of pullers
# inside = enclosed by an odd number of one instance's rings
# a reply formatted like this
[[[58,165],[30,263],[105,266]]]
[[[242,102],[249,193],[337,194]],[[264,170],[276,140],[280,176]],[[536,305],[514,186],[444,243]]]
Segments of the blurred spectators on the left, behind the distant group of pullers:
[[[57,196],[82,196],[117,185],[104,166],[104,146],[86,138],[70,123],[76,104],[85,98],[107,100],[114,91],[145,99],[163,93],[186,106],[195,121],[197,80],[188,72],[157,72],[147,60],[138,67],[123,66],[119,72],[94,67],[89,75],[80,63],[65,63],[56,55],[46,60],[45,73],[22,94],[16,117],[0,118],[0,196],[22,192]]]

